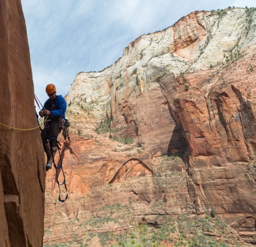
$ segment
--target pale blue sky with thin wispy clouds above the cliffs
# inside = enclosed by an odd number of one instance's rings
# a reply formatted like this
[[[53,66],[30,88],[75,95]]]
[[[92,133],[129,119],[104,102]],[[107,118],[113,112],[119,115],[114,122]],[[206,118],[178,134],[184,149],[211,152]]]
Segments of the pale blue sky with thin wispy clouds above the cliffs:
[[[100,71],[137,37],[172,26],[195,10],[256,7],[255,0],[21,0],[35,94],[48,83],[66,95],[79,72]]]

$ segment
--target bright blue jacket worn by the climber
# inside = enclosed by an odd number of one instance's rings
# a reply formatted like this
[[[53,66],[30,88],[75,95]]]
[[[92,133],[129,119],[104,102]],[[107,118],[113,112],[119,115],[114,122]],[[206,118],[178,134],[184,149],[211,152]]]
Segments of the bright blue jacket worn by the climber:
[[[56,95],[55,99],[47,99],[44,103],[44,108],[50,111],[53,118],[59,118],[62,116],[65,119],[65,111],[67,109],[67,102],[61,95]]]

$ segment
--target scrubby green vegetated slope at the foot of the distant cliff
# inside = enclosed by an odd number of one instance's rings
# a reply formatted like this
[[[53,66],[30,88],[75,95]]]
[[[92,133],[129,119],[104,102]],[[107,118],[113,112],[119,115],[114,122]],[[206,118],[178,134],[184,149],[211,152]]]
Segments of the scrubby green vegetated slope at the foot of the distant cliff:
[[[113,208],[108,207],[107,209],[108,212],[114,212],[118,207],[125,210],[121,204],[116,204]],[[53,245],[46,244],[44,247],[85,247],[96,245],[111,247],[164,247],[170,245],[189,247],[242,247],[247,245],[240,240],[236,231],[218,217],[188,214],[181,214],[174,217],[159,215],[156,217],[156,222],[159,224],[146,224],[144,222],[134,227],[128,227],[126,230],[116,228],[113,232],[84,232],[83,235],[74,236],[72,242]]]

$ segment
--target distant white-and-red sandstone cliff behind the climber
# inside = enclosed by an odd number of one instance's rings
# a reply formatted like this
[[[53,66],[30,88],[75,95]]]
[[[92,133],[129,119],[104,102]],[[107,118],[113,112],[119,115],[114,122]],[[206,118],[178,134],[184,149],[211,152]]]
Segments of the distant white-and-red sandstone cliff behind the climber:
[[[122,203],[133,208],[129,220],[97,230],[213,211],[255,231],[255,17],[254,9],[192,12],[138,37],[102,72],[77,74],[66,97],[73,143],[63,149],[70,199],[56,206],[61,224],[73,220],[80,234],[79,218],[96,231],[91,217]],[[62,230],[47,207],[53,241]]]

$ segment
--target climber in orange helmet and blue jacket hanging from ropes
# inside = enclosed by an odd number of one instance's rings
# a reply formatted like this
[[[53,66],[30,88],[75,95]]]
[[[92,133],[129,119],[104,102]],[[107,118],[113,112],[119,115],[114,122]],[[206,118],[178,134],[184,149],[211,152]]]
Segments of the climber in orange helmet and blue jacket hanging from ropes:
[[[58,149],[57,137],[61,131],[59,123],[61,119],[65,119],[67,103],[61,95],[56,95],[56,87],[53,84],[46,86],[46,93],[49,99],[44,103],[39,115],[48,116],[42,132],[44,151],[47,155],[47,171],[52,168],[52,162]]]

